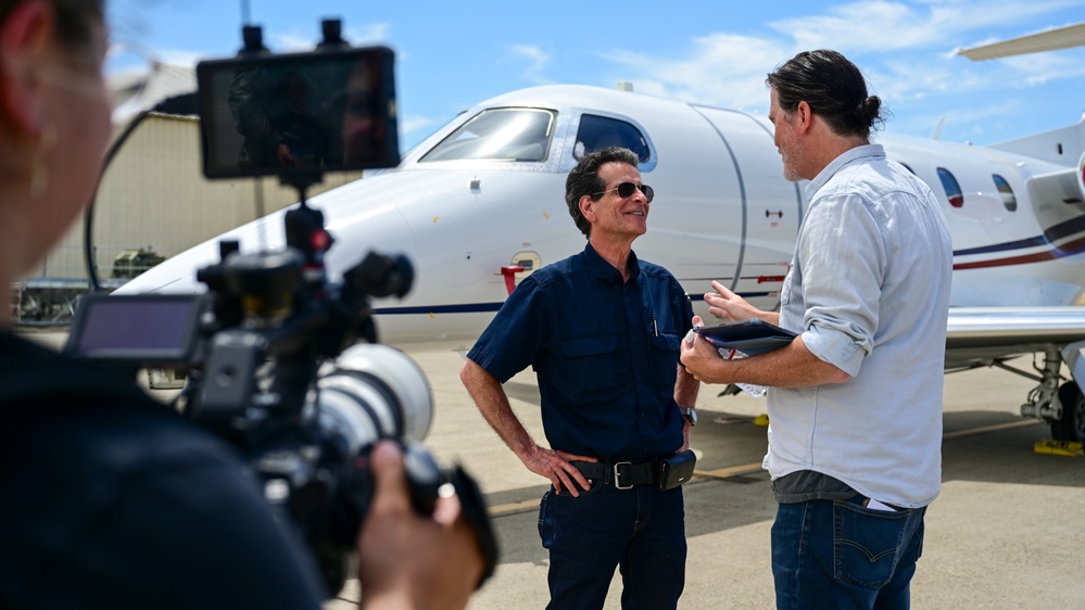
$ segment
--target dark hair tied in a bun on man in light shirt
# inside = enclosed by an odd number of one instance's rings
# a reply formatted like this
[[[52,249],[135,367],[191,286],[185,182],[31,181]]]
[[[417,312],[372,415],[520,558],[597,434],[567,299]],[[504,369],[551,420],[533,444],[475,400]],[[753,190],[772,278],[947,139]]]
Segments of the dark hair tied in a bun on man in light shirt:
[[[806,102],[840,136],[870,137],[884,119],[882,101],[867,96],[862,73],[836,51],[804,51],[769,73],[766,85],[777,92],[780,109],[795,112]]]

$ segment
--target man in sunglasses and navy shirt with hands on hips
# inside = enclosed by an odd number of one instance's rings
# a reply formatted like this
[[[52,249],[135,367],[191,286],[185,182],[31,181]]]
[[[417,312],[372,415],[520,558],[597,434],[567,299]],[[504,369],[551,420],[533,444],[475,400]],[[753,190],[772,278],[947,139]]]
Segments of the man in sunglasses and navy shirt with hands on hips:
[[[580,160],[565,199],[588,245],[523,279],[461,372],[490,425],[552,484],[539,511],[551,608],[602,608],[615,567],[622,608],[674,608],[685,582],[684,479],[663,465],[692,456],[698,383],[678,356],[693,309],[673,276],[632,251],[655,194],[639,162],[618,148]],[[501,385],[528,366],[548,448]]]

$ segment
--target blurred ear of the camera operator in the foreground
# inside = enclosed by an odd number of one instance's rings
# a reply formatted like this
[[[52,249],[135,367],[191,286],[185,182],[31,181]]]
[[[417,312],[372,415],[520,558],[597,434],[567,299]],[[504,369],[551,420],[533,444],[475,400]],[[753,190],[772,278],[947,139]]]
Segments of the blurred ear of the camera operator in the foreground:
[[[45,123],[39,69],[50,51],[53,12],[48,2],[20,2],[0,24],[0,122],[34,139]]]

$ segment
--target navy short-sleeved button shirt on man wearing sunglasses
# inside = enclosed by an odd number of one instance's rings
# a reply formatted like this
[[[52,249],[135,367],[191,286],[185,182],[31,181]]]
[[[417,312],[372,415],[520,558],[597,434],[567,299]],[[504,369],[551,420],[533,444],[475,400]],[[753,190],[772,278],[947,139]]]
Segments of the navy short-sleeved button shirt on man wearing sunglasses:
[[[672,455],[680,341],[693,307],[658,265],[630,253],[631,276],[588,244],[525,278],[467,354],[501,383],[529,365],[554,449],[600,459]]]

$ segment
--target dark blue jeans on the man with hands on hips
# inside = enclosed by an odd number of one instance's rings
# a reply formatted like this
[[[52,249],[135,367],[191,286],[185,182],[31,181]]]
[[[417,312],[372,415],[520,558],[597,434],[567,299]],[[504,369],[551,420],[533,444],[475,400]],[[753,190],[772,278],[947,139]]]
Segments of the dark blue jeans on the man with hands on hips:
[[[678,606],[685,587],[682,487],[616,490],[593,481],[576,498],[551,487],[539,507],[539,535],[550,549],[547,608],[602,608],[615,567],[623,609]]]

